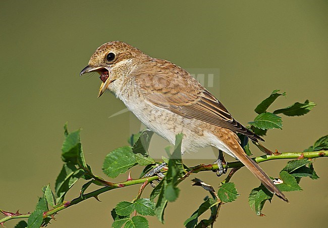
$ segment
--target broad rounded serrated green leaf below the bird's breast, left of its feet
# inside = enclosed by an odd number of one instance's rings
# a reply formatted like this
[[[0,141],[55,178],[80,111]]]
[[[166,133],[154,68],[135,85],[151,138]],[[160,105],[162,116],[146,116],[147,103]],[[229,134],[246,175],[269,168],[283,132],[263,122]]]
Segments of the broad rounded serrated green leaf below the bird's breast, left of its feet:
[[[125,173],[136,164],[136,159],[131,147],[120,147],[107,154],[103,162],[102,171],[109,177],[117,177]]]

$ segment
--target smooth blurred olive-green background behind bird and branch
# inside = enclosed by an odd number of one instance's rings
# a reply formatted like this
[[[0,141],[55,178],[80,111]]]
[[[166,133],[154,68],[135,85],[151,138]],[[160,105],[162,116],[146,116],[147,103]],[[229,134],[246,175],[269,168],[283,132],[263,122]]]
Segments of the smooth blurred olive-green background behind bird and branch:
[[[269,131],[265,146],[272,150],[302,151],[327,133],[327,1],[1,1],[0,19],[1,209],[33,211],[41,187],[54,186],[66,121],[71,130],[83,128],[83,148],[94,173],[104,176],[104,156],[127,144],[138,120],[129,113],[108,118],[124,109],[123,103],[110,93],[97,99],[98,76],[78,76],[94,50],[111,40],[126,41],[183,68],[220,69],[209,90],[243,124],[277,88],[288,97],[279,98],[274,108],[314,101],[317,106],[309,114],[284,116],[284,130]],[[222,207],[215,227],[327,226],[326,162],[314,163],[320,179],[303,178],[302,192],[286,193],[290,204],[275,198],[265,205],[266,217],[257,217],[247,202],[258,180],[240,170],[232,181],[241,196]],[[277,176],[285,163],[261,166]],[[211,172],[195,176],[215,188],[222,180]],[[82,184],[68,200],[78,196]],[[149,218],[150,227],[182,227],[207,195],[191,187],[190,180],[180,188],[180,198],[167,207],[166,224]],[[100,195],[101,203],[90,199],[70,207],[50,227],[108,227],[112,208],[131,201],[138,189],[111,191]]]

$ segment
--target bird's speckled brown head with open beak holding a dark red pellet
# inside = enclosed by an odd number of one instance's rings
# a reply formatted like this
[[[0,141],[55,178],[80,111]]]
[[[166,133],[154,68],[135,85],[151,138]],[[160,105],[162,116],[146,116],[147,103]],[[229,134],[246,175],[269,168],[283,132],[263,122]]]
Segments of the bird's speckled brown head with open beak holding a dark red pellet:
[[[121,41],[111,41],[102,44],[80,73],[98,72],[102,81],[98,97],[115,80],[124,79],[133,70],[138,61],[147,58],[143,52],[130,44]]]

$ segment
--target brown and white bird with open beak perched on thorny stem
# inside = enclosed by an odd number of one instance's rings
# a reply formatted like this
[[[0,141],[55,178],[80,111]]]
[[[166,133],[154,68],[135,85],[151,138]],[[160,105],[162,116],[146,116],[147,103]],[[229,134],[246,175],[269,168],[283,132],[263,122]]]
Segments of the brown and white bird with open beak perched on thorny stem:
[[[288,202],[267,174],[243,150],[237,133],[263,141],[228,112],[186,70],[152,58],[122,41],[102,44],[80,76],[97,72],[98,97],[110,90],[151,131],[171,144],[183,133],[181,152],[212,146],[242,162],[271,193]]]

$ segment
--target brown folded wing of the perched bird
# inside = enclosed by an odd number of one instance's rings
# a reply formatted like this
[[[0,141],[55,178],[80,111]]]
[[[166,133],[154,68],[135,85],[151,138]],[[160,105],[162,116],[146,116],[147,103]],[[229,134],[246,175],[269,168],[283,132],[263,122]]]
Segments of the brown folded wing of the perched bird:
[[[135,75],[139,91],[148,102],[189,119],[240,132],[255,142],[262,140],[237,122],[223,104],[187,71],[168,63],[153,68],[158,70]]]

